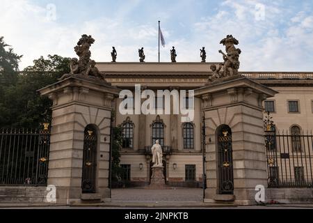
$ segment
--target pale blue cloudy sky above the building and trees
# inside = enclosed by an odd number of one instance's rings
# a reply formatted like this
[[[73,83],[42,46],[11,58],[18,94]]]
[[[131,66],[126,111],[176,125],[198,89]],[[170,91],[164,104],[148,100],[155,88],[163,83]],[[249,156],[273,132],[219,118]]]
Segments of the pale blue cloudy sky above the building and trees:
[[[118,62],[158,61],[158,20],[166,46],[161,62],[223,61],[220,40],[239,40],[241,71],[313,72],[312,0],[0,0],[0,36],[17,54],[19,69],[48,54],[77,57],[74,46],[83,33],[93,36],[91,57]]]

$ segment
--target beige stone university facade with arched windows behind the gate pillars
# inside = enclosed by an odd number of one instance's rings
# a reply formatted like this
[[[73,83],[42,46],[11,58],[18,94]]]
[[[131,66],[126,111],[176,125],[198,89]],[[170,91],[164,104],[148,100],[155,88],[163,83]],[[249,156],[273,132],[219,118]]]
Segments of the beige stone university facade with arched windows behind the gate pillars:
[[[97,63],[97,68],[105,73],[106,81],[112,86],[127,89],[135,95],[135,84],[140,84],[141,92],[149,89],[157,95],[157,90],[181,92],[204,86],[212,64],[218,63]],[[312,72],[241,72],[241,75],[279,92],[264,101],[265,110],[271,112],[277,130],[291,133],[312,130]],[[125,169],[124,182],[128,186],[149,185],[150,148],[159,139],[163,148],[166,184],[201,187],[202,99],[193,100],[192,121],[182,121],[182,114],[164,114],[168,106],[164,102],[161,114],[121,114],[120,103],[124,99],[116,98],[114,101],[115,125],[122,125],[124,133],[120,158],[121,167]],[[141,98],[141,105],[144,100]],[[171,109],[176,100],[171,97]],[[184,100],[188,104],[188,95]],[[157,97],[154,101],[159,107]],[[134,98],[132,102],[135,105]]]

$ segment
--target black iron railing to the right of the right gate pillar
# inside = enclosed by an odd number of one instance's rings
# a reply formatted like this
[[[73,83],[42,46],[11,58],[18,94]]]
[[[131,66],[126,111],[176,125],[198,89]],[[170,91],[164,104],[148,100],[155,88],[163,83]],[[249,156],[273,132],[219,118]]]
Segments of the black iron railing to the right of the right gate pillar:
[[[291,132],[265,125],[268,187],[313,187],[312,132]]]

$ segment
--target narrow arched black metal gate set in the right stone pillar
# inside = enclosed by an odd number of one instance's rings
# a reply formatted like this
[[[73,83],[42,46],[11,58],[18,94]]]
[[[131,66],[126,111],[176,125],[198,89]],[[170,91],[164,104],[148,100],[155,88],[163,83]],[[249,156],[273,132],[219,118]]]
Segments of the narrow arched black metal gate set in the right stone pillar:
[[[232,163],[232,130],[220,125],[217,132],[219,194],[234,194],[234,171]]]

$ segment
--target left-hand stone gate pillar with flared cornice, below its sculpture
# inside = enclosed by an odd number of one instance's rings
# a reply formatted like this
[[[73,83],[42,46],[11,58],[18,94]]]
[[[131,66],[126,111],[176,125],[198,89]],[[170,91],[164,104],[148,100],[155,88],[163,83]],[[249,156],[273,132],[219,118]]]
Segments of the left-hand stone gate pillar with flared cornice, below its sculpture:
[[[53,100],[48,185],[56,186],[57,203],[109,200],[111,102],[119,90],[99,79],[72,75],[38,91]],[[95,130],[88,133],[96,134],[91,146],[84,146],[87,125]],[[87,148],[92,146],[96,148]],[[95,164],[91,159],[83,163],[84,149],[95,149]],[[91,193],[81,187],[86,165],[95,170]]]

